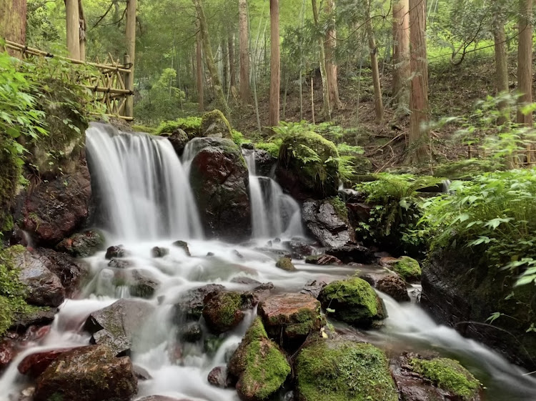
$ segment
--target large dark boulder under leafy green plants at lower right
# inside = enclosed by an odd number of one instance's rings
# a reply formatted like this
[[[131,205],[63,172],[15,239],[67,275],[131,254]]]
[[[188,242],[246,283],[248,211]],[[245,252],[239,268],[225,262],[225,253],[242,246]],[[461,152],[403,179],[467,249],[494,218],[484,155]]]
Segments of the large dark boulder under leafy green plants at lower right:
[[[535,323],[530,311],[536,310],[536,288],[513,287],[516,277],[510,272],[482,266],[470,252],[435,249],[430,254],[422,269],[422,306],[438,322],[536,370],[536,336],[527,332]],[[504,315],[490,324],[496,312]]]

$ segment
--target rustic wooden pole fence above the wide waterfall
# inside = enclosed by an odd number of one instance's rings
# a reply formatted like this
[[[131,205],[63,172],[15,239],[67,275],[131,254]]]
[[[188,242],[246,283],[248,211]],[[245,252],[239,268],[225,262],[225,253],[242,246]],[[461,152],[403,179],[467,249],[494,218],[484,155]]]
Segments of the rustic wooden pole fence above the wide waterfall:
[[[69,61],[71,64],[93,66],[96,74],[81,75],[78,78],[77,84],[90,89],[93,92],[94,102],[104,104],[106,108],[106,116],[132,121],[132,96],[134,96],[134,88],[129,87],[129,76],[132,74],[132,65],[128,55],[125,55],[124,61],[121,64],[119,59],[114,60],[111,54],[104,63],[92,63],[89,61],[80,61],[69,59],[69,57],[55,56],[54,54],[33,49],[28,46],[17,44],[13,41],[6,41],[6,49],[19,51],[23,57],[45,57],[59,58]]]

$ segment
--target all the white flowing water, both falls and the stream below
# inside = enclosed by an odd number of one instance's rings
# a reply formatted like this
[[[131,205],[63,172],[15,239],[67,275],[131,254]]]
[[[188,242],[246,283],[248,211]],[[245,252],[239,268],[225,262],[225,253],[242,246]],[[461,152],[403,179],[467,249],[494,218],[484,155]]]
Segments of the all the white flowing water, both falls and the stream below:
[[[242,339],[255,311],[248,312],[244,322],[224,338],[214,355],[205,353],[200,345],[184,345],[177,363],[176,358],[170,357],[173,330],[169,312],[184,291],[209,283],[246,290],[253,285],[237,284],[233,279],[249,277],[259,282],[273,282],[277,292],[298,292],[313,279],[347,277],[355,272],[353,267],[320,267],[299,261],[294,261],[297,272],[286,272],[275,267],[273,256],[259,252],[253,245],[204,240],[187,169],[167,140],[145,134],[121,134],[109,126],[91,124],[87,132],[87,151],[104,208],[101,212],[109,222],[104,227],[109,230],[109,245],[121,242],[129,251],[131,266],[128,269],[144,270],[162,283],[154,297],[147,301],[156,310],[146,322],[139,322],[142,333],[132,349],[134,364],[144,367],[152,377],[139,382],[138,397],[167,395],[188,400],[238,400],[234,390],[209,385],[207,375],[213,367],[226,365],[229,352]],[[192,158],[192,153],[185,154],[184,164]],[[255,189],[255,184],[251,184],[257,177],[254,164],[251,159],[248,163],[252,203],[257,202],[259,206],[253,220],[257,227],[255,237],[260,240],[285,234],[285,231],[289,237],[302,234],[301,222],[296,223],[296,227],[295,222],[289,223],[289,219],[295,219],[293,214],[299,214],[299,206],[296,209],[297,204],[285,204],[287,196],[282,196],[280,189],[277,197],[263,192],[260,184],[261,189]],[[281,202],[279,211],[269,202]],[[285,209],[288,204],[291,207]],[[256,222],[257,219],[262,221]],[[274,219],[281,222],[279,226],[270,224]],[[188,242],[192,257],[172,246],[177,239]],[[151,257],[155,246],[167,247],[170,252],[155,259]],[[214,255],[207,256],[207,252]],[[20,390],[28,385],[17,371],[17,365],[26,355],[87,345],[89,335],[81,327],[88,315],[111,305],[119,297],[129,297],[128,291],[114,285],[114,269],[108,266],[104,252],[86,258],[86,262],[93,279],[83,297],[67,299],[44,340],[29,345],[11,362],[0,377],[0,401],[17,400]],[[461,360],[487,387],[487,401],[536,400],[536,380],[531,375],[489,348],[465,339],[449,327],[437,325],[415,302],[399,305],[384,294],[380,296],[389,317],[381,330],[368,332],[372,342],[397,351],[435,350]]]

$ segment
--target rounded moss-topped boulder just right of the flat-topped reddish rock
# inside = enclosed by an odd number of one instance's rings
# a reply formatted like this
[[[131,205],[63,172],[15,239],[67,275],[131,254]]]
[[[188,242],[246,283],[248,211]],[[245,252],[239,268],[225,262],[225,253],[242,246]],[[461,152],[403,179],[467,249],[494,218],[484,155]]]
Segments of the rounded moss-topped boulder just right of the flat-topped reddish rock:
[[[328,284],[320,292],[322,307],[332,316],[355,327],[368,328],[384,319],[382,301],[364,279],[354,277]]]

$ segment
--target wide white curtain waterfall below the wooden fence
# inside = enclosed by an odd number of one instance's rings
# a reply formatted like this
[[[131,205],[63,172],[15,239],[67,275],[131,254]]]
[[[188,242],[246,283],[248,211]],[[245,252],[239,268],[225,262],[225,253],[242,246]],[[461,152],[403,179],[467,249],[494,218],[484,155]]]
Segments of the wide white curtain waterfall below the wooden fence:
[[[92,123],[86,150],[107,225],[116,237],[202,237],[189,179],[167,139]]]

